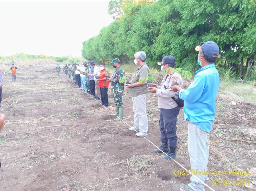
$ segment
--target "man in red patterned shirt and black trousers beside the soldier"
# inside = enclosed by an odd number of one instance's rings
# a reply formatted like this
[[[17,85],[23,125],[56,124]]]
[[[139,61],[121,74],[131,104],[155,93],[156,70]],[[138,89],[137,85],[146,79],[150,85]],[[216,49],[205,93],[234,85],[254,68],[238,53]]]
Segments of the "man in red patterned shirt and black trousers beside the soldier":
[[[108,100],[109,81],[106,80],[108,78],[109,78],[109,71],[106,70],[105,63],[100,63],[100,76],[97,80],[99,81],[102,107],[109,106],[109,100]]]

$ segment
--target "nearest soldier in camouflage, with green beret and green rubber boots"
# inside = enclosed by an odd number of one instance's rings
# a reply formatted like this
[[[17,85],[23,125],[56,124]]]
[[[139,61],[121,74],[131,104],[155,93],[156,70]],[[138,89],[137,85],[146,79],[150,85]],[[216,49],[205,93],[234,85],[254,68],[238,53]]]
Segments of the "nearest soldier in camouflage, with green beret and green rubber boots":
[[[125,88],[124,82],[120,83],[120,79],[123,79],[125,72],[120,66],[120,60],[118,58],[113,59],[111,64],[113,64],[113,67],[116,68],[114,74],[109,79],[109,81],[111,82],[111,91],[113,92],[114,102],[116,104],[116,112],[111,116],[118,116],[118,118],[116,118],[115,121],[120,121],[121,119],[123,119],[124,115],[124,104],[122,102],[122,94]]]

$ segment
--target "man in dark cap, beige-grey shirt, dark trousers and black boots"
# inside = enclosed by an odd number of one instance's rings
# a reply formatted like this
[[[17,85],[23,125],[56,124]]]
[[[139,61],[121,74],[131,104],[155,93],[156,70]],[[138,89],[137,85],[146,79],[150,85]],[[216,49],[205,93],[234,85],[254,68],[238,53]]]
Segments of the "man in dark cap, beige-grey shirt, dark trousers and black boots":
[[[178,121],[177,116],[179,114],[180,107],[177,102],[172,99],[172,97],[177,98],[178,93],[169,90],[174,82],[182,85],[180,74],[172,72],[175,69],[175,61],[176,60],[173,56],[165,56],[163,57],[162,62],[157,63],[158,65],[161,65],[162,72],[167,74],[163,77],[161,86],[153,84],[154,87],[149,87],[150,90],[148,90],[148,92],[156,93],[158,96],[158,108],[160,109],[160,140],[162,141],[162,145],[159,148],[163,152],[167,153],[168,156],[165,155],[163,157],[163,159],[167,160],[176,157],[176,146],[178,140],[176,122]],[[161,153],[161,150],[154,149],[153,152]]]

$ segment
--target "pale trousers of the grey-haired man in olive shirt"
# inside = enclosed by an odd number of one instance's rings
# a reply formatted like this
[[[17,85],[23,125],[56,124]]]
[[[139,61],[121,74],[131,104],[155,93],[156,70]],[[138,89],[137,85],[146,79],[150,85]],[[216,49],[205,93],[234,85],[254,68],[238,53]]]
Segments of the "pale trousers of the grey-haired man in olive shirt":
[[[139,131],[147,133],[148,120],[146,111],[147,94],[131,97],[133,103],[134,121],[133,125],[139,128]]]

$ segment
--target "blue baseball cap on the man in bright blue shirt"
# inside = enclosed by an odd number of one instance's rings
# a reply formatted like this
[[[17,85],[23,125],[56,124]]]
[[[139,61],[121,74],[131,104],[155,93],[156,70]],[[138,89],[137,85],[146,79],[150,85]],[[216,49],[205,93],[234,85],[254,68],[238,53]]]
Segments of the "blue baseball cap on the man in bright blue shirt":
[[[220,58],[221,56],[219,55],[219,46],[213,42],[213,41],[207,41],[207,42],[202,42],[200,45],[198,45],[195,48],[196,51],[203,51],[203,53],[208,54],[209,56],[212,56],[214,58]]]

